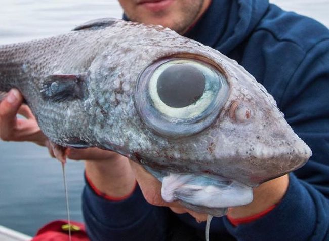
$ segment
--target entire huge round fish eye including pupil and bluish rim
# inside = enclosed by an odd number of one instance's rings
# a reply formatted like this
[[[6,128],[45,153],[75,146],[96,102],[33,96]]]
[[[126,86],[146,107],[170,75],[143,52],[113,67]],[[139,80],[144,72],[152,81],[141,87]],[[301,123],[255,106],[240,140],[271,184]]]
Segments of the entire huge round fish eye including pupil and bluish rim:
[[[167,59],[140,75],[135,105],[153,131],[182,137],[207,128],[227,96],[226,79],[215,67],[193,59]]]

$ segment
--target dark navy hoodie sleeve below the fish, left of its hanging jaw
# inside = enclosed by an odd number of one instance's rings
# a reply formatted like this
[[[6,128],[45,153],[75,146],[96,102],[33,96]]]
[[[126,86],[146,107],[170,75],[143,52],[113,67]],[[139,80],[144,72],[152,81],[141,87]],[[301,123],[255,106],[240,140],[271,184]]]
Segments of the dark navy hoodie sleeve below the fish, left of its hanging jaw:
[[[162,241],[166,239],[168,209],[148,204],[137,185],[130,197],[110,201],[88,182],[83,191],[83,215],[92,241]]]

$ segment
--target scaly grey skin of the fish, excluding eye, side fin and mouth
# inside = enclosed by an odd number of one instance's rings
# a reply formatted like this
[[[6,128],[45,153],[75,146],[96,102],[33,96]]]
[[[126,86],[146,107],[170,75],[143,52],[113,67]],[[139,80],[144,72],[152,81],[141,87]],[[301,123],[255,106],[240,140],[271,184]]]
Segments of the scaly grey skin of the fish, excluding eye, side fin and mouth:
[[[252,187],[296,170],[311,156],[273,97],[236,61],[168,28],[94,23],[0,47],[0,91],[19,89],[52,142],[113,150],[153,169],[211,174]],[[138,77],[169,57],[210,62],[229,85],[211,125],[190,136],[159,135],[136,108]],[[83,75],[84,95],[43,98],[45,79],[63,74]]]

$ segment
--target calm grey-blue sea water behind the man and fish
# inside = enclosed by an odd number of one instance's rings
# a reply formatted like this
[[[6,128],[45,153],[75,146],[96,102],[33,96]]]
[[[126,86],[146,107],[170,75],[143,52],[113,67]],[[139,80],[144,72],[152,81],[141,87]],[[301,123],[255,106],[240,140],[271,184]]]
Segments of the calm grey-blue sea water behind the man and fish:
[[[271,2],[329,26],[328,0]],[[122,15],[116,0],[0,0],[0,6],[0,45],[66,33],[91,19]],[[83,162],[66,165],[71,219],[76,221],[83,221],[83,172]],[[66,219],[60,163],[35,144],[0,141],[0,225],[34,235],[55,219]]]

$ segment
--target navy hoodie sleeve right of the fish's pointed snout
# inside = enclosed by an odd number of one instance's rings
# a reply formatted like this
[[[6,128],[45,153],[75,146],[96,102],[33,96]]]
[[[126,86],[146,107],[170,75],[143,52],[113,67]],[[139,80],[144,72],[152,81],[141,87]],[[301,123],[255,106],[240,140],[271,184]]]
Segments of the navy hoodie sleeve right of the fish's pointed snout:
[[[270,213],[237,227],[225,226],[238,240],[329,240],[329,39],[309,49],[282,98],[287,122],[313,155],[290,174],[285,196]]]

